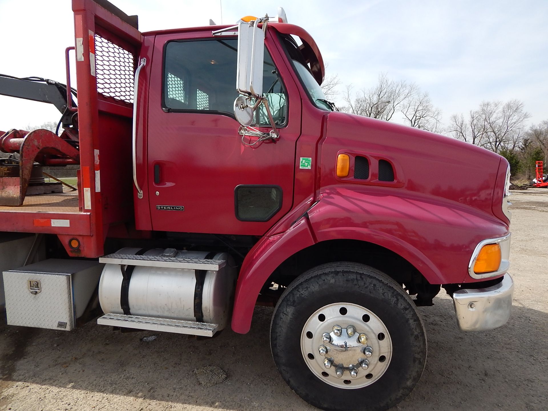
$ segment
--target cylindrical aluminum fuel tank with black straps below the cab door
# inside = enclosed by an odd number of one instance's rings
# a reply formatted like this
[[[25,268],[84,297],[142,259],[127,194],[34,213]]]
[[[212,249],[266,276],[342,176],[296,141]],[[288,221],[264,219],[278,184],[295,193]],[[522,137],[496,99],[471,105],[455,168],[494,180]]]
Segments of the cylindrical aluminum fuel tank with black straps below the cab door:
[[[117,253],[136,254],[139,250],[128,247]],[[143,255],[161,256],[163,253],[164,249],[156,248]],[[208,254],[211,256],[208,252],[177,250],[175,256],[204,259]],[[219,271],[135,266],[127,290],[130,313],[214,323],[219,324],[219,329],[224,328],[232,311],[236,269],[227,253],[217,253],[213,259],[226,260],[226,265]],[[203,287],[199,284],[196,287],[200,277],[203,278]],[[99,301],[105,313],[124,313],[121,306],[122,280],[120,265],[105,265],[99,282]],[[200,301],[203,318],[199,318]]]

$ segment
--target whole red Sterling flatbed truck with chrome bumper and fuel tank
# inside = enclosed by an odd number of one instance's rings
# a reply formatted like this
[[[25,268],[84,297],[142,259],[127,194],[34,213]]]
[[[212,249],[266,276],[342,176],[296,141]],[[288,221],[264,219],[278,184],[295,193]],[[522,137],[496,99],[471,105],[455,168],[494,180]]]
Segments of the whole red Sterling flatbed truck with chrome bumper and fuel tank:
[[[141,33],[104,0],[72,9],[65,84],[0,77],[0,94],[62,114],[58,133],[0,132],[8,324],[70,330],[101,310],[99,324],[215,336],[271,305],[272,355],[300,397],[384,410],[423,372],[416,306],[442,287],[461,330],[506,323],[503,157],[338,111],[283,12]],[[77,190],[41,180],[68,164]]]

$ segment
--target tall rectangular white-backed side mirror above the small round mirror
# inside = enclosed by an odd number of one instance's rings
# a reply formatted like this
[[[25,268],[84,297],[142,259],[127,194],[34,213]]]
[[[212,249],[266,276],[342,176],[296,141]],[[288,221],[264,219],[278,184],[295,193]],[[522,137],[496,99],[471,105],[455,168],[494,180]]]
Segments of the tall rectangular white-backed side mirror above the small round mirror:
[[[240,21],[238,24],[236,90],[255,98],[262,96],[262,66],[265,53],[265,33],[258,27],[259,22],[261,19]]]

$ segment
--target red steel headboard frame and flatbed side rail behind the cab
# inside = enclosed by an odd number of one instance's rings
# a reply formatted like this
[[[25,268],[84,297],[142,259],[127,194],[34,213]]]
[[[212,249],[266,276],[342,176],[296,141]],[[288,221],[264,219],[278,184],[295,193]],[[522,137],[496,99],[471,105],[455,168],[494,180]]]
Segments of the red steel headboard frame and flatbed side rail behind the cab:
[[[73,0],[72,10],[75,18],[76,40],[76,78],[78,100],[85,102],[78,107],[79,124],[79,203],[81,212],[59,213],[24,212],[14,210],[0,211],[0,231],[17,231],[33,233],[51,233],[59,236],[69,255],[94,258],[103,255],[103,244],[109,225],[114,225],[113,218],[106,218],[104,199],[101,191],[112,187],[106,186],[108,180],[100,180],[100,149],[111,150],[104,145],[100,147],[99,118],[100,112],[110,116],[131,117],[131,105],[112,101],[98,96],[95,77],[94,35],[96,30],[109,33],[121,41],[133,45],[139,52],[142,36],[139,30],[124,22],[118,16],[108,12],[92,0]],[[68,53],[68,48],[66,53]],[[136,58],[137,56],[135,56]],[[68,77],[68,72],[67,72]],[[70,79],[67,78],[67,84]],[[115,138],[116,136],[109,136]],[[129,138],[130,136],[124,136]],[[125,167],[126,164],[124,164]],[[129,164],[127,164],[129,166]],[[116,182],[112,181],[111,185]],[[116,207],[112,205],[111,208]],[[113,213],[113,212],[109,212]],[[128,213],[133,215],[133,213]],[[52,220],[64,221],[64,226],[54,225]],[[68,246],[71,238],[77,238],[80,247]]]

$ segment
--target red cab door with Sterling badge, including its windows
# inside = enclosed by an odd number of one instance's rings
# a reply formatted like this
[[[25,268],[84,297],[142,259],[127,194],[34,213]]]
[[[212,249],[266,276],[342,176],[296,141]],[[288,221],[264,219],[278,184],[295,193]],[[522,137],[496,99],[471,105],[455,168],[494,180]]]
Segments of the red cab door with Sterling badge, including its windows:
[[[153,230],[263,235],[292,208],[301,101],[274,42],[267,33],[263,90],[279,139],[256,142],[238,134],[233,115],[237,37],[210,28],[156,36],[147,126]],[[264,111],[255,120],[270,130]]]

